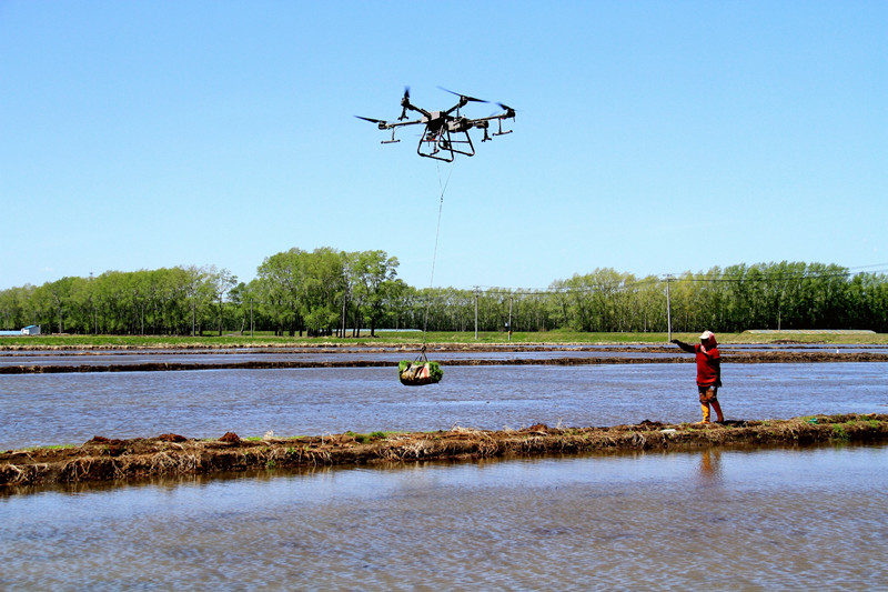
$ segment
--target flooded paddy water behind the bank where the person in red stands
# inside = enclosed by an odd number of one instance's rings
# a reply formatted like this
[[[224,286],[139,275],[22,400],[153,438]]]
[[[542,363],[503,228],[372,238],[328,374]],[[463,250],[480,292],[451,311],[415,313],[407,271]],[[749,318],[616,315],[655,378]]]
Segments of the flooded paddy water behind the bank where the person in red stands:
[[[0,377],[0,449],[93,435],[190,438],[697,421],[693,364],[450,367],[434,385],[393,368]],[[888,364],[735,364],[727,419],[885,413]]]

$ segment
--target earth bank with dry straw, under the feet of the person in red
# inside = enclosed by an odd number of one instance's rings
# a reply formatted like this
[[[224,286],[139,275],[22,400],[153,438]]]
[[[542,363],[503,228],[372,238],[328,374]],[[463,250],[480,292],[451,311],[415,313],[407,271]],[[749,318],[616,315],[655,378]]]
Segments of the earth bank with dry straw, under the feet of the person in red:
[[[522,430],[336,434],[261,441],[176,434],[133,440],[95,437],[80,446],[0,453],[0,493],[34,485],[121,481],[182,474],[360,465],[423,460],[562,454],[591,451],[693,450],[707,446],[886,442],[888,414],[674,424],[644,421],[612,428],[533,425]]]

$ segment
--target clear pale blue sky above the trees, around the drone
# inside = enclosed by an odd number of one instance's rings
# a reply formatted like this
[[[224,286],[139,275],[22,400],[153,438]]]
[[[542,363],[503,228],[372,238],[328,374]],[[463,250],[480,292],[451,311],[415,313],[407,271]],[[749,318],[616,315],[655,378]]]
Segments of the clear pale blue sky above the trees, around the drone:
[[[888,2],[0,0],[0,289],[291,247],[435,285],[888,269]],[[518,110],[454,164],[405,86]],[[471,104],[487,116],[495,106]]]

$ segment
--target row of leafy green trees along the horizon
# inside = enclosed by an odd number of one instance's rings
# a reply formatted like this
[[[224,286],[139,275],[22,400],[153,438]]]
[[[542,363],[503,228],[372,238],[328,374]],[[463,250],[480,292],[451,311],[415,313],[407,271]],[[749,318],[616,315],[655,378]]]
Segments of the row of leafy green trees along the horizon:
[[[226,269],[175,267],[67,277],[0,291],[0,324],[81,334],[361,337],[430,331],[888,331],[888,278],[835,264],[738,264],[637,278],[596,269],[545,290],[417,289],[385,251],[290,249],[239,282]]]

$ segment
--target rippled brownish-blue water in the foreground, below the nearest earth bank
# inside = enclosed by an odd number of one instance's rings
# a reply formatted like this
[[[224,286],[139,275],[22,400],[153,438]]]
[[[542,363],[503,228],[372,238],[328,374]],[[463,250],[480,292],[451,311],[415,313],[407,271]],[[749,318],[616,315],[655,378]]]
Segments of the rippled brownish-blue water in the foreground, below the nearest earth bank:
[[[888,448],[639,453],[0,498],[0,589],[884,590]]]

